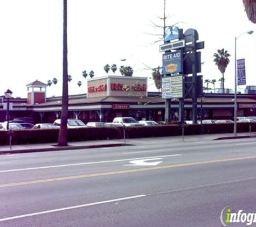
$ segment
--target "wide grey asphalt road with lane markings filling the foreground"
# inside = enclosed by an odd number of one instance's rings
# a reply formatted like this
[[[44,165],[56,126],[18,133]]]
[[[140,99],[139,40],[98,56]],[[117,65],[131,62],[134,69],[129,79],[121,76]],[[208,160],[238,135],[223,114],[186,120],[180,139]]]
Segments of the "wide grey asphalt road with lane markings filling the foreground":
[[[154,138],[140,146],[1,155],[0,226],[222,226],[226,206],[256,213],[255,145]]]

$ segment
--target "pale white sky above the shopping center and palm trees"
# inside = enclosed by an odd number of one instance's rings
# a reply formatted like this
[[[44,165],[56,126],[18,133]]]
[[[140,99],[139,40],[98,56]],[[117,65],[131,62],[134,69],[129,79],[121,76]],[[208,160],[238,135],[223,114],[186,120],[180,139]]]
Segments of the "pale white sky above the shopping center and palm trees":
[[[245,58],[247,86],[256,85],[256,24],[247,19],[242,0],[166,1],[167,25],[176,24],[184,32],[196,29],[199,41],[205,42],[200,73],[204,80],[218,81],[222,74],[213,54],[221,48],[229,51],[225,88],[234,88],[235,37],[253,30],[237,40],[237,59]],[[68,74],[73,79],[69,94],[86,93],[82,71],[105,76],[107,63],[118,68],[131,66],[133,76],[150,78],[149,67],[162,65],[159,46],[163,41],[152,35],[163,33],[153,26],[163,26],[159,17],[163,17],[163,0],[68,0]],[[47,87],[47,97],[60,96],[62,45],[63,0],[0,0],[0,96],[10,89],[13,97],[25,98],[26,84],[34,80],[47,83],[53,77],[58,83]],[[148,84],[149,91],[156,91],[152,79]],[[219,86],[217,82],[216,88]]]

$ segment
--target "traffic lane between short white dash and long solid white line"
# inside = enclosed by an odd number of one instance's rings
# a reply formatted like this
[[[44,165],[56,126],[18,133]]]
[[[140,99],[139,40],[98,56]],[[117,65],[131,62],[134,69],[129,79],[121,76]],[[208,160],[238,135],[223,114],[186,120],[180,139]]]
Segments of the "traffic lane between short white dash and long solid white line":
[[[250,154],[255,153],[254,149],[248,150],[249,147],[254,147],[254,142],[251,141],[244,141],[244,143],[236,143],[232,145],[236,145],[236,147],[240,147],[237,151],[244,153],[245,149],[247,152],[249,151]],[[113,148],[113,150],[90,150],[90,151],[66,151],[65,155],[62,153],[52,153],[46,152],[41,153],[40,156],[34,155],[27,155],[20,154],[10,157],[4,157],[1,159],[0,157],[0,171],[6,169],[20,169],[20,168],[36,168],[39,166],[56,166],[56,165],[68,165],[68,164],[75,164],[80,162],[93,162],[93,161],[105,161],[113,158],[124,158],[124,157],[136,157],[136,155],[143,155],[143,154],[166,154],[166,153],[176,153],[176,152],[193,152],[195,154],[199,154],[200,152],[210,152],[213,151],[214,153],[221,152],[222,154],[225,152],[233,153],[232,149],[230,149],[230,143],[219,143],[215,141],[215,143],[201,143],[201,144],[194,144],[192,145],[181,145],[181,146],[170,146],[170,147],[137,147],[132,146],[130,148],[120,147],[120,148]],[[233,147],[233,146],[232,146]],[[27,158],[24,160],[23,155]],[[130,155],[130,156],[129,156]],[[21,157],[21,158],[20,158]],[[60,158],[61,157],[61,158]]]

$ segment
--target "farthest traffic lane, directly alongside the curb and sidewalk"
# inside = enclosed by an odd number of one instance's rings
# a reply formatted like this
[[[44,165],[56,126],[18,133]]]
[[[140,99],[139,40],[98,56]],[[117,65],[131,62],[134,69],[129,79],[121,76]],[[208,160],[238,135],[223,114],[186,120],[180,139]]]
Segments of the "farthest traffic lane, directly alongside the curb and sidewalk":
[[[154,140],[154,139],[153,139]],[[157,140],[157,139],[155,139]],[[255,140],[254,140],[255,141]],[[100,157],[107,158],[113,157],[116,155],[120,155],[120,151],[123,152],[133,152],[133,151],[149,151],[149,150],[169,150],[172,148],[175,149],[186,149],[191,148],[196,150],[197,148],[200,150],[200,147],[204,146],[216,146],[216,149],[222,146],[229,146],[229,145],[239,145],[239,143],[243,143],[243,146],[246,146],[246,143],[250,145],[254,142],[252,139],[247,140],[219,140],[219,141],[199,141],[199,142],[192,142],[192,143],[175,143],[175,144],[161,144],[158,143],[157,145],[140,145],[140,146],[124,146],[124,147],[106,147],[106,148],[94,148],[94,149],[83,149],[83,150],[67,150],[67,151],[56,151],[56,152],[36,152],[36,153],[23,153],[23,154],[6,154],[0,155],[0,162],[9,162],[16,161],[17,165],[39,165],[43,163],[56,163],[58,161],[79,161],[83,159],[91,159],[100,155]],[[256,142],[254,142],[256,144]],[[61,160],[59,160],[59,156],[61,156]],[[1,167],[1,166],[0,166]]]

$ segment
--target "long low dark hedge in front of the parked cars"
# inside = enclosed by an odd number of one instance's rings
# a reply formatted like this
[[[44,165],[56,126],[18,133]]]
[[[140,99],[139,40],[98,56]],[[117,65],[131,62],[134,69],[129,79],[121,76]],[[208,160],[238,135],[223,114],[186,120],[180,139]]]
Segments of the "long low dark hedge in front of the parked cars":
[[[234,125],[227,124],[191,124],[183,125],[185,135],[232,133]],[[251,123],[251,131],[256,131],[256,123]],[[142,137],[164,137],[181,136],[182,125],[157,125],[126,127],[126,138]],[[238,123],[237,132],[249,132],[248,123]],[[12,144],[33,144],[33,143],[57,143],[58,129],[37,129],[37,130],[13,130]],[[80,129],[68,129],[68,141],[87,141],[102,139],[122,139],[123,127],[85,127]],[[0,131],[0,144],[6,145],[9,142],[9,135],[6,131]]]

